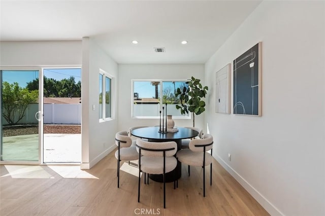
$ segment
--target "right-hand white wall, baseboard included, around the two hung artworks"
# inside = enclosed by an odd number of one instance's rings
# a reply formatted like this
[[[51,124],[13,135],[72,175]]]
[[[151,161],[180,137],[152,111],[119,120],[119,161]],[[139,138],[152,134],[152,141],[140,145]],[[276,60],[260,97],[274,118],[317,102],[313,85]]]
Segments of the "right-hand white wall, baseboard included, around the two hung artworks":
[[[206,123],[213,155],[272,215],[325,215],[324,16],[323,1],[264,1],[205,65],[215,92],[216,71],[263,42],[262,117],[216,114],[210,94]]]

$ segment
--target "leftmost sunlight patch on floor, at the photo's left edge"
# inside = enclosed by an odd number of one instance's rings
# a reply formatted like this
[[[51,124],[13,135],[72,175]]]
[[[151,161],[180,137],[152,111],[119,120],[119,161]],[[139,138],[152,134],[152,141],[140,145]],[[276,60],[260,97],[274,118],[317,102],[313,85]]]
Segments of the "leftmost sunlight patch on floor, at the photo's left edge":
[[[54,178],[42,166],[5,165],[9,172],[0,177],[11,176],[12,178]]]

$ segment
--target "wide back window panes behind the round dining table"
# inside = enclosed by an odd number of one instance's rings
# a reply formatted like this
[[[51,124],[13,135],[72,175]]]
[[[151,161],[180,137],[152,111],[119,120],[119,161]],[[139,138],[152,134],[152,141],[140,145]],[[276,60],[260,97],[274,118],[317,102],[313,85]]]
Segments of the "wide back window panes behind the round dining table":
[[[181,115],[176,109],[176,104],[180,104],[180,100],[179,97],[175,97],[175,93],[177,88],[187,87],[186,81],[133,80],[132,116],[159,118],[159,111],[162,111],[167,103],[167,115],[172,115],[173,118],[190,118],[187,114]]]

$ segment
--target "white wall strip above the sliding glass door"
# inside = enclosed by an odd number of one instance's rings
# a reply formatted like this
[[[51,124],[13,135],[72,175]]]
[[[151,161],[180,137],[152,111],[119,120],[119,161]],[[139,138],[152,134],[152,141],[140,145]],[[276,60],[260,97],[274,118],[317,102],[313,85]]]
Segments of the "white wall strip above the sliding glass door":
[[[0,42],[0,65],[81,65],[81,41]]]

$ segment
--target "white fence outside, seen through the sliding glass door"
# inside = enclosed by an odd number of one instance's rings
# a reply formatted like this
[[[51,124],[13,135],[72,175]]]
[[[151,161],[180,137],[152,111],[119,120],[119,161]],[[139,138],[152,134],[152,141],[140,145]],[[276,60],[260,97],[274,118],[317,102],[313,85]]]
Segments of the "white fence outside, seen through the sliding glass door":
[[[35,114],[39,104],[29,104],[18,124],[37,124]],[[8,122],[3,118],[3,124]],[[80,104],[44,104],[44,124],[81,124]]]

